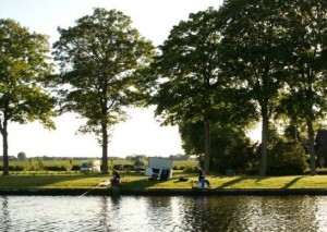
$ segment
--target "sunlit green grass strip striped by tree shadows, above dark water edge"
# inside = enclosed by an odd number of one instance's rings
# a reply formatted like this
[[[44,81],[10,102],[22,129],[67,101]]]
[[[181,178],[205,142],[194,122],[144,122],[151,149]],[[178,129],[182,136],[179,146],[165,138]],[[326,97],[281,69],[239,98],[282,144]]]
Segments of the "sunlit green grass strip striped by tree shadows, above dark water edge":
[[[179,178],[187,178],[180,182]],[[0,190],[28,188],[93,188],[100,182],[108,181],[110,175],[102,174],[65,174],[65,175],[1,175]],[[148,181],[143,173],[121,173],[123,188],[137,190],[185,190],[191,188],[191,182],[196,181],[196,173],[174,172],[168,181]],[[210,175],[208,180],[215,190],[250,190],[250,188],[327,188],[327,175],[294,175],[294,176],[221,176]],[[106,187],[106,186],[101,186]],[[107,186],[108,187],[108,186]]]

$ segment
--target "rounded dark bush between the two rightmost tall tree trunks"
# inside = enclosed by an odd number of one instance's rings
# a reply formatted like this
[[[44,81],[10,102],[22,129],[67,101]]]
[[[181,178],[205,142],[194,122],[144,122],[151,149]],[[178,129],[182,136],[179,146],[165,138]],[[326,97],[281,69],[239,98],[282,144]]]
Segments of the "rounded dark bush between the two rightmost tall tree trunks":
[[[279,138],[268,154],[267,174],[303,174],[307,169],[306,155],[296,141]]]

